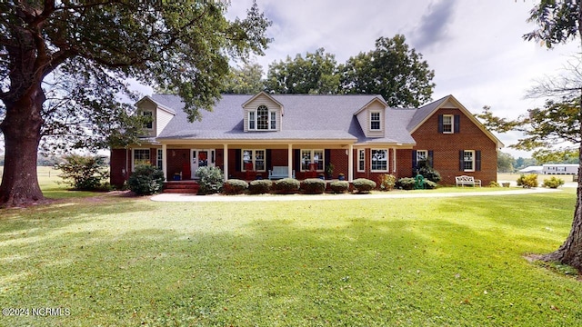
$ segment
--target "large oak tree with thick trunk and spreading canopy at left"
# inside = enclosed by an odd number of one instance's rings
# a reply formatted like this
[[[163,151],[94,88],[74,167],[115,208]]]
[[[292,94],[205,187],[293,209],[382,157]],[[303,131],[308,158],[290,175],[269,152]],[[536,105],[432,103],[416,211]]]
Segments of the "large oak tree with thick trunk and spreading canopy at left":
[[[229,21],[227,3],[0,2],[0,129],[5,136],[0,205],[43,199],[36,156],[44,134],[65,141],[75,141],[66,139],[73,130],[89,139],[113,131],[114,138],[123,136],[128,113],[120,94],[128,93],[128,78],[175,91],[186,102],[189,119],[198,119],[198,109],[209,109],[220,96],[229,57],[262,54],[269,42],[270,22],[256,4],[245,19]],[[55,84],[66,86],[69,100],[61,102],[63,94],[55,92],[47,101]]]

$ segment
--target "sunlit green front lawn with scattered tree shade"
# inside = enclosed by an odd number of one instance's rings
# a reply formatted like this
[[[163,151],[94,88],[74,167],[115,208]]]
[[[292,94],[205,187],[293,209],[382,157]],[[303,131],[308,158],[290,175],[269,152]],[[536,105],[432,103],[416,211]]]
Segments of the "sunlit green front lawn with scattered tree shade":
[[[0,303],[31,314],[0,325],[582,325],[576,277],[523,257],[566,238],[574,189],[281,203],[94,195],[0,211]],[[39,307],[70,314],[32,316]]]

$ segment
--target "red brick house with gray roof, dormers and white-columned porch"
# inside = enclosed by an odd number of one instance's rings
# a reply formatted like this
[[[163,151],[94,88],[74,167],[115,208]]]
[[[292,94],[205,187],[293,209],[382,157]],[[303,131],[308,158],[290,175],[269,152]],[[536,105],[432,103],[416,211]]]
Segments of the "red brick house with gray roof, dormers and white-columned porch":
[[[223,94],[212,112],[189,123],[176,95],[155,94],[136,104],[152,117],[140,144],[111,150],[111,183],[136,164],[153,164],[168,181],[196,178],[217,166],[225,178],[256,179],[326,173],[346,180],[415,174],[427,161],[443,184],[468,174],[497,180],[503,144],[452,95],[420,108],[390,108],[379,95]],[[277,173],[275,173],[276,171]]]

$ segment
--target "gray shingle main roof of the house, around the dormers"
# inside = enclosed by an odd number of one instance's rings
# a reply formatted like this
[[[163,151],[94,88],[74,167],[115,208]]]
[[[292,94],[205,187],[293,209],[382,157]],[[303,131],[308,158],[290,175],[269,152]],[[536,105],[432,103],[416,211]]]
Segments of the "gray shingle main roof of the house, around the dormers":
[[[379,95],[272,94],[284,105],[282,130],[244,132],[242,104],[254,95],[223,94],[212,112],[201,110],[202,120],[189,123],[184,103],[176,95],[155,94],[157,104],[176,112],[158,138],[200,140],[350,140],[370,144],[416,144],[407,131],[416,109],[386,109],[386,135],[366,138],[357,122],[356,111]]]

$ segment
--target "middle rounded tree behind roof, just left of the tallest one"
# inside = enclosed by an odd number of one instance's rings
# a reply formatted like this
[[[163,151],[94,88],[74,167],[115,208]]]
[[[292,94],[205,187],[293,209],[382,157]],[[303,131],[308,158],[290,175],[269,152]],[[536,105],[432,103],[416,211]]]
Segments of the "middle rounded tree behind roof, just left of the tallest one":
[[[295,59],[287,56],[285,62],[269,64],[266,89],[277,94],[337,94],[336,57],[325,51],[319,48],[305,58],[296,54]]]

